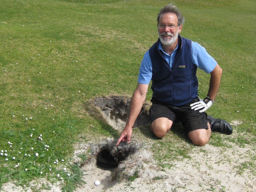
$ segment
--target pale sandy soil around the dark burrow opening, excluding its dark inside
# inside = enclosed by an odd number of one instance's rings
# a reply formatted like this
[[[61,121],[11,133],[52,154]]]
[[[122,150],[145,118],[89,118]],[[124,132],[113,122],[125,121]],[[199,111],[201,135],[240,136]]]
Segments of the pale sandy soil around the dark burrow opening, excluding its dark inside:
[[[237,133],[234,131],[232,135],[236,137]],[[255,146],[247,145],[245,148],[241,148],[234,143],[227,143],[232,148],[221,148],[207,144],[203,147],[195,147],[189,154],[191,159],[174,161],[172,162],[173,166],[163,169],[154,161],[153,154],[149,150],[151,143],[138,143],[140,142],[133,141],[129,145],[120,144],[119,148],[132,146],[134,153],[122,161],[118,168],[108,170],[97,167],[95,155],[104,145],[113,147],[115,141],[109,138],[97,144],[81,143],[77,145],[74,157],[87,152],[88,149],[91,150],[88,162],[82,166],[85,174],[83,180],[87,184],[77,188],[77,191],[256,191],[256,165],[249,166],[243,170],[242,174],[238,174],[242,165],[246,165],[248,162],[256,164]],[[74,161],[79,161],[79,159],[74,159]],[[129,182],[127,177],[132,176],[135,172],[138,173],[138,178]],[[112,178],[116,179],[112,180]],[[93,184],[95,180],[99,180],[101,184],[95,186]],[[42,182],[45,181],[42,180]],[[40,187],[40,182],[35,185]],[[40,191],[61,191],[61,183],[50,184],[50,186],[51,190],[42,189]],[[4,184],[3,191],[30,192],[31,189],[22,189],[7,183]]]

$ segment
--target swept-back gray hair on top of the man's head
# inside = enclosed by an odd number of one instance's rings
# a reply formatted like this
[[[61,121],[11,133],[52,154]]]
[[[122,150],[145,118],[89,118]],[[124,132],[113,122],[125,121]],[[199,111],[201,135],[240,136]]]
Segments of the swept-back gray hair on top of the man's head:
[[[177,18],[178,18],[178,26],[184,24],[185,18],[182,16],[182,14],[181,14],[180,10],[178,9],[178,7],[176,5],[173,5],[172,3],[170,3],[170,4],[162,7],[159,10],[158,17],[157,17],[157,25],[159,24],[159,17],[160,17],[160,15],[164,14],[164,13],[174,13],[174,14],[176,14]]]

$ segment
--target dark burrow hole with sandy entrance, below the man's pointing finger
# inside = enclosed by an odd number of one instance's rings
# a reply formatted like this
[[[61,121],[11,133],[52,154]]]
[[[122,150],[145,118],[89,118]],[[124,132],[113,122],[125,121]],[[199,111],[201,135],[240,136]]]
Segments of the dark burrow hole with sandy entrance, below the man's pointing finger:
[[[115,146],[115,144],[115,140],[108,138],[97,145],[91,145],[91,157],[82,166],[84,171],[82,179],[87,183],[86,191],[104,191],[115,185],[118,182],[118,174],[123,169],[122,163],[140,147],[140,144],[135,142],[129,145],[121,143]],[[94,185],[96,180],[100,181],[99,186]],[[84,191],[83,188],[81,190]]]

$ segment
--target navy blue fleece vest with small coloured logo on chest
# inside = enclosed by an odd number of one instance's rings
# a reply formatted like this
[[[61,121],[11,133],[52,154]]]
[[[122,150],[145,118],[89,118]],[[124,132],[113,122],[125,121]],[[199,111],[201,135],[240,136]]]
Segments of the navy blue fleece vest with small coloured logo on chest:
[[[183,106],[197,96],[197,66],[191,60],[191,40],[178,37],[178,50],[170,68],[158,49],[160,40],[149,49],[152,62],[153,98],[171,106]]]

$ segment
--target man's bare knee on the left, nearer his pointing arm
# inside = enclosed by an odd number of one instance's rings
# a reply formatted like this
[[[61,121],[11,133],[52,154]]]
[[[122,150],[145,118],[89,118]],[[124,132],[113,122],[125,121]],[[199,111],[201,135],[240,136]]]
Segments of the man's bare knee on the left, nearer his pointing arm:
[[[165,117],[161,117],[153,121],[150,130],[159,138],[162,138],[171,129],[173,122]]]

